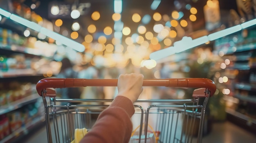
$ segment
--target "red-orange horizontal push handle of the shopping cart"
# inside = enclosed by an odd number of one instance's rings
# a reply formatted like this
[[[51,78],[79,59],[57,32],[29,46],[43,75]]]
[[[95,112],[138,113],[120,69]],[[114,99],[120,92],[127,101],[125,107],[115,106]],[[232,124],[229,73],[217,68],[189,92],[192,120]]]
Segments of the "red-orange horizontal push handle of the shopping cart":
[[[85,86],[117,86],[117,79],[73,79],[73,78],[45,78],[38,81],[36,90],[39,95],[46,88],[70,88]],[[208,88],[210,96],[216,91],[216,85],[206,78],[183,79],[144,79],[142,86],[166,86],[184,88]]]

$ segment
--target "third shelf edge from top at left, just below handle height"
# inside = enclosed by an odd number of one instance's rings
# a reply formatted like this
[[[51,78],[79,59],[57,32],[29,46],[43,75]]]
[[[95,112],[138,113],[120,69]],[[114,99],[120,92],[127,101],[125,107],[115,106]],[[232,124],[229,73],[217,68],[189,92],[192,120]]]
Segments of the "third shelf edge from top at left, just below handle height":
[[[1,106],[0,115],[11,112],[11,111],[16,110],[18,108],[21,108],[22,106],[25,106],[25,105],[27,105],[31,102],[34,102],[39,98],[40,98],[40,96],[35,93],[35,94],[29,95],[27,97],[24,97],[22,99],[19,99],[17,101],[13,101],[13,102],[11,102],[9,104],[6,104],[4,106]]]

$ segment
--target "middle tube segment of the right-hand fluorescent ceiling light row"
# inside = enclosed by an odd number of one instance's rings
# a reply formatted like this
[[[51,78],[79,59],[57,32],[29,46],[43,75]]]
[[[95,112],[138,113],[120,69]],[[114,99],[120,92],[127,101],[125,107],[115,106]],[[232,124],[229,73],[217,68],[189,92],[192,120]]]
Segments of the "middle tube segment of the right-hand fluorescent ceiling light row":
[[[242,30],[241,25],[236,25],[236,26],[212,33],[212,34],[208,35],[208,39],[210,41],[213,41],[213,40],[219,39],[221,37],[230,35],[232,33],[236,33],[237,31],[240,31],[240,30]]]

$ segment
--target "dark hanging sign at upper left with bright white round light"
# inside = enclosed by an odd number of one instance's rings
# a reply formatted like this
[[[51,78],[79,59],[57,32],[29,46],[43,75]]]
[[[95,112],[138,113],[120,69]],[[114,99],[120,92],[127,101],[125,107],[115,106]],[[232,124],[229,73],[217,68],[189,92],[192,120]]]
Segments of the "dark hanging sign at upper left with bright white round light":
[[[50,2],[48,6],[49,18],[71,18],[72,10],[78,10],[80,15],[85,15],[90,3],[70,4],[67,2]]]

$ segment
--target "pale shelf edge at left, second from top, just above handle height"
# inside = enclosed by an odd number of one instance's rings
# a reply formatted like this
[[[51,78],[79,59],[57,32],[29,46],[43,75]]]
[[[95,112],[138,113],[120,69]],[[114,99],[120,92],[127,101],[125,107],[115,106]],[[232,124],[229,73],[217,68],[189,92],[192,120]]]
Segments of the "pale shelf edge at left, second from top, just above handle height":
[[[36,71],[31,68],[24,69],[9,69],[7,71],[0,70],[0,78],[9,78],[9,77],[21,77],[21,76],[40,76],[43,74],[36,73]]]

